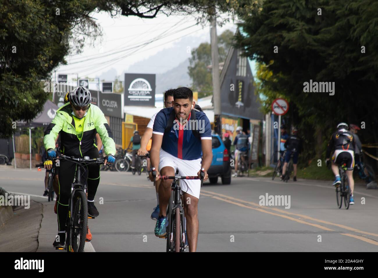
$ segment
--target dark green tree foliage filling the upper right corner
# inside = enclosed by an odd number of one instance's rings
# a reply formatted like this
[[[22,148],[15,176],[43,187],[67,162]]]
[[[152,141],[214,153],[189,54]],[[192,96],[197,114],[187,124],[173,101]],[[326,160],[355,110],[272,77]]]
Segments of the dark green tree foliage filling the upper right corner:
[[[240,6],[241,2],[234,2]],[[321,8],[321,15],[318,9]],[[374,0],[265,0],[240,15],[237,43],[246,56],[269,65],[267,98],[290,99],[293,123],[308,148],[326,144],[340,121],[361,124],[362,140],[378,142],[378,4]],[[274,53],[274,47],[278,53]],[[361,47],[366,53],[361,52]],[[335,82],[335,95],[304,92],[304,82]],[[265,91],[264,91],[265,90]],[[316,140],[316,131],[322,140]],[[308,153],[307,158],[314,155]]]

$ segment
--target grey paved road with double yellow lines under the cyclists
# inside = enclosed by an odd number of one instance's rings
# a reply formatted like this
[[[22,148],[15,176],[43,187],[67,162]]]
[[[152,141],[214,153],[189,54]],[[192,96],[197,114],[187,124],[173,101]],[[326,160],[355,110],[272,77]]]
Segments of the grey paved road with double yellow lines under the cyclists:
[[[56,252],[52,248],[56,214],[54,203],[40,197],[43,177],[44,172],[35,169],[0,168],[2,187],[32,194],[31,199],[43,204],[37,251]],[[259,196],[266,194],[290,196],[290,208],[260,206]],[[104,204],[98,204],[100,197]],[[338,209],[335,189],[322,181],[282,183],[277,179],[239,177],[233,178],[231,185],[205,182],[199,202],[197,251],[377,252],[378,190],[356,186],[355,202],[349,210]],[[155,221],[150,214],[156,197],[144,175],[102,172],[96,203],[100,216],[88,220],[93,240],[86,246],[87,251],[165,251],[165,241],[153,235]],[[143,240],[146,238],[147,242]]]

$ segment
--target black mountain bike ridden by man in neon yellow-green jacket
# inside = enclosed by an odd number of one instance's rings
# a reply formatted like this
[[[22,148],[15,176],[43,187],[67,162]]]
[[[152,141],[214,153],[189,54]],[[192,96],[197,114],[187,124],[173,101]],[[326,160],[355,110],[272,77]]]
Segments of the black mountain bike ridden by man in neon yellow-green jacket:
[[[59,167],[60,160],[74,162],[77,165],[75,180],[71,184],[71,196],[68,203],[68,215],[66,221],[66,244],[64,248],[57,247],[59,250],[67,250],[67,252],[84,252],[85,236],[87,234],[88,225],[88,204],[85,193],[87,192],[87,183],[85,182],[88,175],[86,165],[88,164],[104,164],[104,158],[93,158],[85,156],[84,158],[68,157],[60,155],[54,159],[53,168]],[[43,164],[37,164],[36,167],[42,168]],[[84,169],[84,172],[82,172]],[[63,173],[60,173],[63,174]],[[85,177],[82,180],[82,177]]]

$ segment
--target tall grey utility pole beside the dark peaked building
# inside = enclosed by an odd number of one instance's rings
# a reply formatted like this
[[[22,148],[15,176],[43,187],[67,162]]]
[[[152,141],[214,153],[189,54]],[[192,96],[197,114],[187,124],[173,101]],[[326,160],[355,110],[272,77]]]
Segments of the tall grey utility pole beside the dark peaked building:
[[[217,37],[217,15],[215,7],[211,9],[211,64],[212,64],[212,85],[213,85],[213,105],[214,105],[214,132],[221,135],[221,102],[220,102],[220,84],[219,84],[219,55],[218,55],[218,37]]]

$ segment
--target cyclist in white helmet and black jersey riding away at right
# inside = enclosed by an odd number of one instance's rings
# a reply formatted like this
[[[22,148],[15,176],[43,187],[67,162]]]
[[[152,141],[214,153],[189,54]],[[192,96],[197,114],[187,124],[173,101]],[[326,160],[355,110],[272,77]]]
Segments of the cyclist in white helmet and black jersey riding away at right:
[[[348,131],[349,127],[346,123],[339,123],[337,126],[337,131],[332,134],[331,140],[327,146],[327,152],[325,154],[326,164],[330,163],[330,154],[332,150],[335,150],[332,155],[332,172],[335,174],[335,182],[332,185],[336,187],[340,186],[341,179],[339,174],[339,164],[342,160],[346,160],[347,163],[347,176],[350,185],[350,205],[354,204],[353,200],[353,189],[354,189],[354,180],[353,180],[353,168],[355,165],[354,161],[354,152],[356,149],[356,140],[353,137],[353,134]]]

